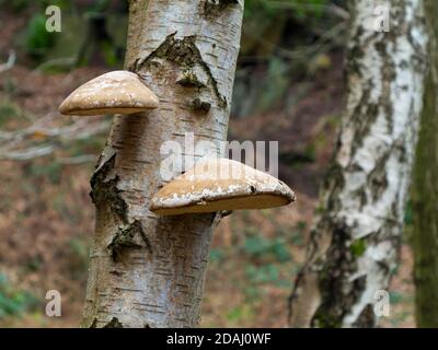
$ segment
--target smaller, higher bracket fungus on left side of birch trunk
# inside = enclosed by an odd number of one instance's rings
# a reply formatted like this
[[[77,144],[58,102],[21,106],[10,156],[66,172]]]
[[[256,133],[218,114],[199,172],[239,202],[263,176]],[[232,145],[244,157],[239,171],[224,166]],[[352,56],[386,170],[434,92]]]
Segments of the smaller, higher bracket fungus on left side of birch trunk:
[[[66,115],[132,114],[159,106],[157,95],[126,70],[99,75],[74,90],[59,106]]]

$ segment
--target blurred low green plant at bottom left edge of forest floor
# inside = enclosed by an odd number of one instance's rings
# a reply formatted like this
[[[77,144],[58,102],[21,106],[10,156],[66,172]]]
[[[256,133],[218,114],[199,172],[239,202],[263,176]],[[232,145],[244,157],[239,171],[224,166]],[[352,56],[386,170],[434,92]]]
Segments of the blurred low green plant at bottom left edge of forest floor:
[[[28,292],[14,289],[7,277],[0,273],[0,319],[21,316],[39,306],[38,300]]]

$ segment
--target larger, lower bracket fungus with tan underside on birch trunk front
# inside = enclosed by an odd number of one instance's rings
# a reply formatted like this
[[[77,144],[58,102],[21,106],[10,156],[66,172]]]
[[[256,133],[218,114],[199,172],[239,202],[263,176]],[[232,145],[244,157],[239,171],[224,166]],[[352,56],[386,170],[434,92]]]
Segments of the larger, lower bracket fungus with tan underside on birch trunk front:
[[[150,210],[178,215],[286,206],[293,191],[279,179],[228,159],[198,162],[191,171],[162,187]]]

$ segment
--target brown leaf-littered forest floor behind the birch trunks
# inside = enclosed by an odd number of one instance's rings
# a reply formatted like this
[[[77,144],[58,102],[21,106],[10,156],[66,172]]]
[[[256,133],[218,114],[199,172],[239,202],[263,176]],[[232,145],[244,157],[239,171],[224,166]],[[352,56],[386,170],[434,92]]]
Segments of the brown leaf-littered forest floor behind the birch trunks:
[[[14,30],[3,27],[0,43],[8,43],[8,31],[12,35]],[[333,60],[342,62],[341,57]],[[55,110],[78,84],[102,72],[101,68],[82,68],[47,75],[14,67],[0,75],[0,128],[24,125],[26,114],[42,117]],[[12,93],[5,92],[5,82],[15,86]],[[297,191],[298,202],[292,208],[234,212],[221,222],[212,244],[201,326],[285,326],[287,298],[303,260],[318,184],[331,155],[342,103],[338,63],[321,72],[291,110],[232,119],[230,139],[280,141],[280,178]],[[57,156],[60,152],[97,156],[104,140],[105,136],[100,136],[77,142],[32,162],[1,162],[1,327],[78,326],[93,232],[89,177],[94,164],[60,164]],[[313,161],[292,163],[297,154],[309,153]],[[44,314],[45,293],[50,289],[62,295],[59,318]],[[382,326],[415,326],[407,244],[390,292],[392,313]]]

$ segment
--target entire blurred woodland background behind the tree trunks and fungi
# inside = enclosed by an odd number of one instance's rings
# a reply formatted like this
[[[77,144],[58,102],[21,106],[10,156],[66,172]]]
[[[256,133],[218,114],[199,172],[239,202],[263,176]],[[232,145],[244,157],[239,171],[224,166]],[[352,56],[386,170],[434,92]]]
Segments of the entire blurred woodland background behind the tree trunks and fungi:
[[[47,33],[45,9],[62,9]],[[343,109],[346,1],[245,0],[229,140],[278,140],[293,210],[234,212],[215,233],[201,326],[280,327],[318,210]],[[0,0],[0,327],[76,327],[87,282],[94,206],[89,178],[111,116],[60,116],[83,82],[123,67],[125,1]],[[382,326],[413,327],[406,211],[402,264]],[[44,314],[62,295],[62,317]]]

